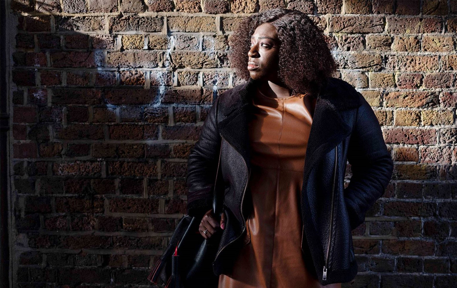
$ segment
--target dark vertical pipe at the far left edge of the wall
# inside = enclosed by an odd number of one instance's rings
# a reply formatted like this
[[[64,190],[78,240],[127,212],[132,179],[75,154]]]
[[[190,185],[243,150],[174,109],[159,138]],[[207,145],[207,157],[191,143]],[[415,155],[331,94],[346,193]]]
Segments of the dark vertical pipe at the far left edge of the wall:
[[[0,278],[1,288],[10,287],[8,241],[8,95],[6,89],[6,1],[0,1]]]

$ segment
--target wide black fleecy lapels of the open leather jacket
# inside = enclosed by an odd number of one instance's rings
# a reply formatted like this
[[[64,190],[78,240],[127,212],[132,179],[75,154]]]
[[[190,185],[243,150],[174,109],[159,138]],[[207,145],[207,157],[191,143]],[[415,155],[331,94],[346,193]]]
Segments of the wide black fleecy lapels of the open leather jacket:
[[[223,118],[218,122],[219,133],[246,160],[250,167],[250,145],[248,123],[250,116],[250,95],[253,95],[257,81],[250,78],[244,84],[235,86],[227,101],[219,103]],[[329,81],[318,95],[313,116],[313,123],[306,149],[304,173],[351,133],[351,127],[341,117],[340,110],[356,108],[361,105],[359,96],[350,85],[343,81],[329,78]],[[352,88],[353,89],[353,88]]]

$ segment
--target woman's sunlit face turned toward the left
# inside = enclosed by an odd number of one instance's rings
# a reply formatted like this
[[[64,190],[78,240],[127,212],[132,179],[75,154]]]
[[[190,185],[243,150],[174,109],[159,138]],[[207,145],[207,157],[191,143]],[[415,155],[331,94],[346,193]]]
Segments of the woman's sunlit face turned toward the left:
[[[275,81],[278,73],[279,39],[275,26],[263,23],[251,37],[248,67],[251,78]]]

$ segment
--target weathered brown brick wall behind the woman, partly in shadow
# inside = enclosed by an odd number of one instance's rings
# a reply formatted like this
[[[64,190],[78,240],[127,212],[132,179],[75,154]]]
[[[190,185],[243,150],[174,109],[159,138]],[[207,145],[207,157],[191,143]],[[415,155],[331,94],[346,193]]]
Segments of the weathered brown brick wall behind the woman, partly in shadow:
[[[7,6],[13,287],[149,284],[186,213],[202,121],[241,83],[227,37],[243,15],[276,7],[330,36],[335,77],[367,98],[393,154],[391,184],[353,231],[359,273],[343,286],[457,282],[457,1]]]

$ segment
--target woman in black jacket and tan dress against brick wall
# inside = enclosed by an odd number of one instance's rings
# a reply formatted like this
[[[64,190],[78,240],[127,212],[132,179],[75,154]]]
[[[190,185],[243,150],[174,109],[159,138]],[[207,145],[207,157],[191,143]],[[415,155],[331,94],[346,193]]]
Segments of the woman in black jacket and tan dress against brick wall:
[[[223,233],[218,287],[339,288],[357,273],[351,230],[392,175],[377,118],[331,77],[336,64],[307,15],[251,15],[231,41],[232,68],[248,82],[216,99],[187,175],[188,214],[202,217],[202,237]],[[344,188],[346,160],[353,175]]]

